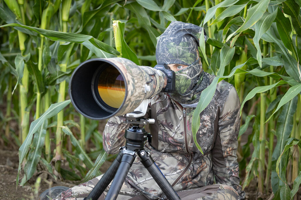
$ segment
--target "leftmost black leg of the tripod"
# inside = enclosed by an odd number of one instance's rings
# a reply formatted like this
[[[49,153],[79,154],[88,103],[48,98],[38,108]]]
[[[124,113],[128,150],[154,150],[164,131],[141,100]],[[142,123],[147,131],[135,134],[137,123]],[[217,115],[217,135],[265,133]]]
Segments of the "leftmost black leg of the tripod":
[[[97,200],[101,194],[104,192],[104,190],[108,187],[110,182],[113,180],[114,175],[117,172],[117,169],[120,165],[121,159],[123,156],[123,152],[120,151],[117,155],[116,159],[113,161],[109,169],[106,173],[101,177],[101,179],[98,181],[98,183],[95,185],[91,193],[85,198],[86,200]]]

